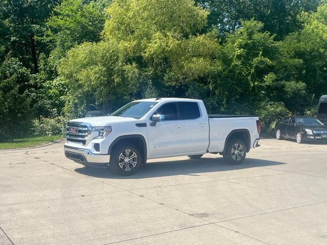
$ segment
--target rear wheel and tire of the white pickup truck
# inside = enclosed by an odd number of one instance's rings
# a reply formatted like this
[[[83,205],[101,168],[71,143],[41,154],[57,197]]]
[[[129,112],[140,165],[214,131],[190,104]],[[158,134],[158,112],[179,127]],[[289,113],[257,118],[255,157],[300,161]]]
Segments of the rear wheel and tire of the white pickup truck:
[[[240,139],[228,140],[224,151],[224,160],[231,165],[241,164],[246,156],[246,146]]]

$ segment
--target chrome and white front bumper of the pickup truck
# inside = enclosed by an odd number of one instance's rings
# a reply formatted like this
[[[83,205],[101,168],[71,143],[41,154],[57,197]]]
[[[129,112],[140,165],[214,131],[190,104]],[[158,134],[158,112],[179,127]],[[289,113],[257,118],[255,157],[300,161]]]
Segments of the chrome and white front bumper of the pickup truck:
[[[94,154],[88,149],[73,148],[71,146],[64,146],[65,156],[75,162],[86,166],[103,167],[108,166],[110,162],[110,155]]]

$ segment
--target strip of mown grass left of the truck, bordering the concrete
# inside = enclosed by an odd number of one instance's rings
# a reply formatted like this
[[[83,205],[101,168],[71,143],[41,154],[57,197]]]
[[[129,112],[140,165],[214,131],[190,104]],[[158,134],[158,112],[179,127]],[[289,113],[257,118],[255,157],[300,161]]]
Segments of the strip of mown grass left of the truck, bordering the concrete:
[[[38,145],[54,142],[63,138],[64,137],[61,135],[52,135],[52,136],[14,139],[13,141],[10,142],[0,142],[0,150],[19,149],[19,148],[38,146]]]

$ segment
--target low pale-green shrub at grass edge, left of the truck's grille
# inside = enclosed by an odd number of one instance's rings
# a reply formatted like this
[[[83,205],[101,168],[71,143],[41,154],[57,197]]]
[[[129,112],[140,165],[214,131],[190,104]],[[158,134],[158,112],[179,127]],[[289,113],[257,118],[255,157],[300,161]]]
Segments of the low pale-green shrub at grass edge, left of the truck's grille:
[[[33,134],[34,136],[51,136],[51,135],[64,135],[66,118],[63,116],[57,116],[54,118],[34,119]]]

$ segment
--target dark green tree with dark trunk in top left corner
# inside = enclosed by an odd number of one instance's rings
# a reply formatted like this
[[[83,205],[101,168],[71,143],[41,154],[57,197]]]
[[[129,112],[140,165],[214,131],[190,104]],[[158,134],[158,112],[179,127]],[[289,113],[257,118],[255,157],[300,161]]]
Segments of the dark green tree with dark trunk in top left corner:
[[[43,36],[45,20],[59,0],[4,0],[0,12],[8,24],[9,40],[6,52],[11,51],[22,64],[34,73],[38,72],[38,59],[46,52]]]

